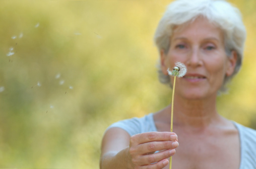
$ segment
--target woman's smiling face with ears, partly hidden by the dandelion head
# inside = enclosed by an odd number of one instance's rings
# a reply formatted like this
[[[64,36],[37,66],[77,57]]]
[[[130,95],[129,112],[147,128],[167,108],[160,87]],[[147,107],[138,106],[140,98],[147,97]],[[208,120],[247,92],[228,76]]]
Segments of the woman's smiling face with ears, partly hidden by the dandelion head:
[[[216,97],[225,76],[235,67],[236,53],[226,56],[222,31],[207,19],[174,28],[167,54],[161,51],[162,71],[173,68],[176,62],[187,67],[182,78],[176,78],[175,95],[187,99]],[[173,77],[172,84],[173,84]]]

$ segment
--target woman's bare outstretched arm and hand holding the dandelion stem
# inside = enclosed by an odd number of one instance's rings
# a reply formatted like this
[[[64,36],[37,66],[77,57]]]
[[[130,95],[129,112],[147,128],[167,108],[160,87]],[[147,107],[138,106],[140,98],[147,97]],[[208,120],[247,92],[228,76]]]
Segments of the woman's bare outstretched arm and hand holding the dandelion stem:
[[[130,137],[121,128],[110,128],[103,136],[100,168],[163,168],[177,145],[177,135],[172,132],[146,132]]]

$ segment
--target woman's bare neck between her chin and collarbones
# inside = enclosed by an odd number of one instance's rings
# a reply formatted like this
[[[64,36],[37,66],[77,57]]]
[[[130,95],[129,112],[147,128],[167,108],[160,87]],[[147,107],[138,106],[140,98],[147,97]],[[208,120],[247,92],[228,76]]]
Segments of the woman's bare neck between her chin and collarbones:
[[[170,122],[171,106],[167,106],[159,113],[162,114],[162,120],[165,118],[166,122]],[[175,97],[174,99],[174,126],[205,128],[222,120],[216,110],[216,98],[188,100]]]

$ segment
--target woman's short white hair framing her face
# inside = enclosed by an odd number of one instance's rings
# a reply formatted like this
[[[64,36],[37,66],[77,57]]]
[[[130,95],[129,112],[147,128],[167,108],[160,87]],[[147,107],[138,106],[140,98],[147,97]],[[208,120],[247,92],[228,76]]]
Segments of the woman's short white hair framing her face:
[[[160,20],[155,32],[154,41],[161,50],[167,54],[170,46],[170,37],[175,26],[194,21],[198,17],[204,17],[209,22],[217,25],[224,33],[226,55],[232,51],[237,53],[237,63],[233,74],[225,77],[221,92],[226,91],[225,84],[239,71],[243,59],[243,49],[246,30],[237,8],[224,0],[177,0],[172,2]],[[170,77],[164,75],[159,65],[159,80],[169,84]]]

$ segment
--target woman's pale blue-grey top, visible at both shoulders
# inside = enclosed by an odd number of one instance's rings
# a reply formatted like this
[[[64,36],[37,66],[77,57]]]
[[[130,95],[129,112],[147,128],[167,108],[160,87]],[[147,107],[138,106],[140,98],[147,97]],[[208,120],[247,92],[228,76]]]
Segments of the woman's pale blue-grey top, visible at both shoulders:
[[[238,129],[240,138],[240,167],[239,169],[256,169],[256,130],[233,122]],[[134,117],[113,123],[107,129],[119,127],[131,136],[138,133],[157,131],[153,113],[144,117]]]

